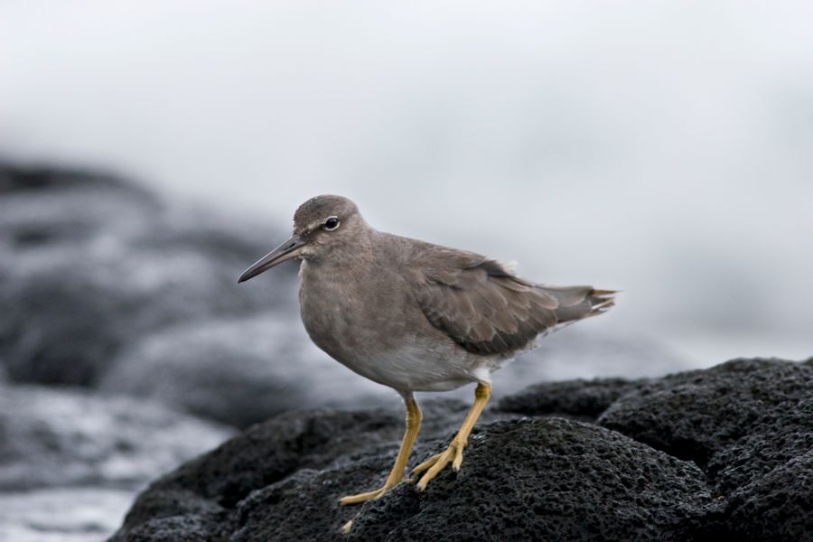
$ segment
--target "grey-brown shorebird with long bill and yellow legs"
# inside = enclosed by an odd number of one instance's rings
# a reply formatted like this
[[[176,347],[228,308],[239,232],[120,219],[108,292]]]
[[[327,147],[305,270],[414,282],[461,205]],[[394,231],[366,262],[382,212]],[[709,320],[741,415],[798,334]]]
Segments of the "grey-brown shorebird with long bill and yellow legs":
[[[535,348],[549,332],[613,306],[614,290],[540,285],[509,265],[372,228],[350,199],[320,195],[294,212],[290,238],[239,277],[247,281],[299,258],[299,304],[311,340],[332,359],[393,388],[406,405],[406,431],[384,485],[342,497],[381,498],[406,478],[423,415],[415,392],[476,384],[460,430],[418,464],[418,491],[450,464],[457,472],[491,397],[491,373]]]

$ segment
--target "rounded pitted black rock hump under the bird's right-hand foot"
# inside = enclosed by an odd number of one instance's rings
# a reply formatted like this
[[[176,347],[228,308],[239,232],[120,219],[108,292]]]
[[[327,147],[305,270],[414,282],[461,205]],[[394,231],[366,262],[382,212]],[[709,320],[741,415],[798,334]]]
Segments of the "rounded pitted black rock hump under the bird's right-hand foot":
[[[457,475],[443,472],[424,494],[402,487],[366,504],[350,538],[677,540],[717,506],[694,464],[560,418],[484,425],[466,462]]]

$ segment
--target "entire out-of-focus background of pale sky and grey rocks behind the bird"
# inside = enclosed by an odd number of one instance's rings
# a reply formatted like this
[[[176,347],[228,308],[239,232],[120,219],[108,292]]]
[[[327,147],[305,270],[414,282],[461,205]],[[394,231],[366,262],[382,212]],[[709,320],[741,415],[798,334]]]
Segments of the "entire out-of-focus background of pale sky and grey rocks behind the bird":
[[[239,273],[295,208],[623,290],[494,377],[813,353],[809,2],[0,3],[0,538],[292,408],[399,407]],[[471,389],[453,397],[468,397]]]

